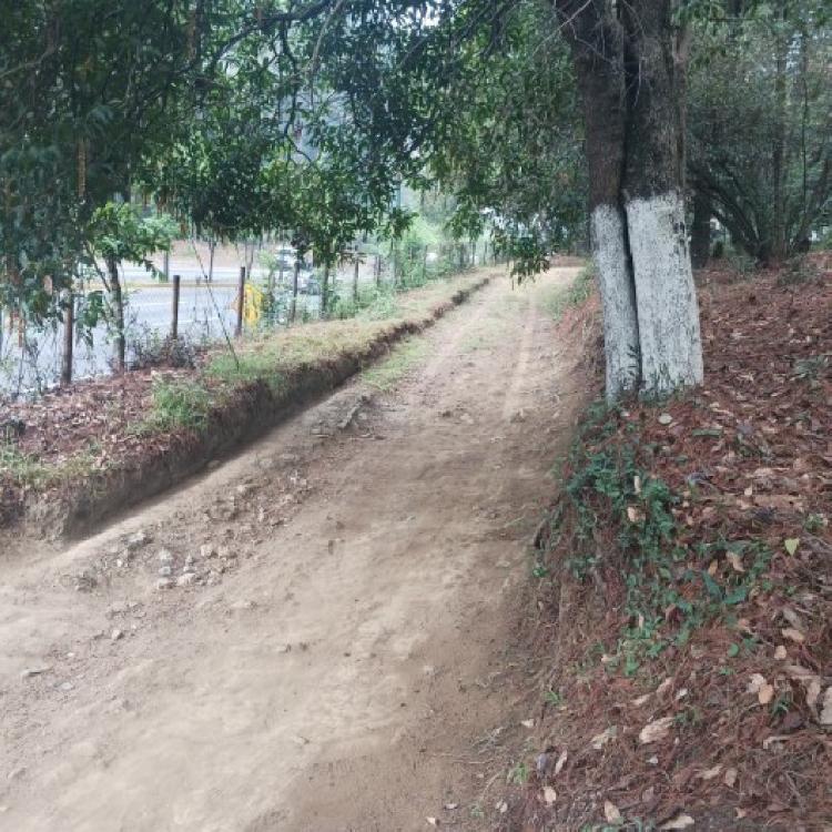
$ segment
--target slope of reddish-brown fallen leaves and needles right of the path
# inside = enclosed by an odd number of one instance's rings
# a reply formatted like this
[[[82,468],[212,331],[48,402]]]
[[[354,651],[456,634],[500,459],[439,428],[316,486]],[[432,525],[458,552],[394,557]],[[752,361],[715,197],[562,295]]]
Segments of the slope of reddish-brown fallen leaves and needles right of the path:
[[[586,414],[537,540],[546,692],[504,829],[832,822],[829,266],[701,274],[704,386]]]

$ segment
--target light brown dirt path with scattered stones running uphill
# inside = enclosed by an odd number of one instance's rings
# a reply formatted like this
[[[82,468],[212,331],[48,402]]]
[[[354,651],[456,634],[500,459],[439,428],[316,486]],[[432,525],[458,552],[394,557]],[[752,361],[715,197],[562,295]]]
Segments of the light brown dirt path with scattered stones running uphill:
[[[359,379],[94,538],[4,541],[0,829],[491,828],[578,398],[541,305],[574,274],[495,280],[392,389]]]

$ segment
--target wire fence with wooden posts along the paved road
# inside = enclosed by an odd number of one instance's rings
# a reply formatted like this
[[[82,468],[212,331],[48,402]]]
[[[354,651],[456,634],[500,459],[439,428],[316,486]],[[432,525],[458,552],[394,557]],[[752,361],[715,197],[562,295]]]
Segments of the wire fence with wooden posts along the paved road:
[[[356,251],[329,270],[274,257],[224,268],[207,280],[202,264],[156,280],[139,270],[122,275],[128,368],[187,361],[200,348],[232,338],[351,317],[379,297],[493,262],[487,245],[392,245]],[[106,375],[118,366],[111,315],[94,325],[90,310],[101,285],[81,282],[63,321],[28,325],[0,307],[0,398],[28,398],[71,381]],[[68,314],[71,313],[71,314]],[[94,316],[93,316],[94,317]]]

